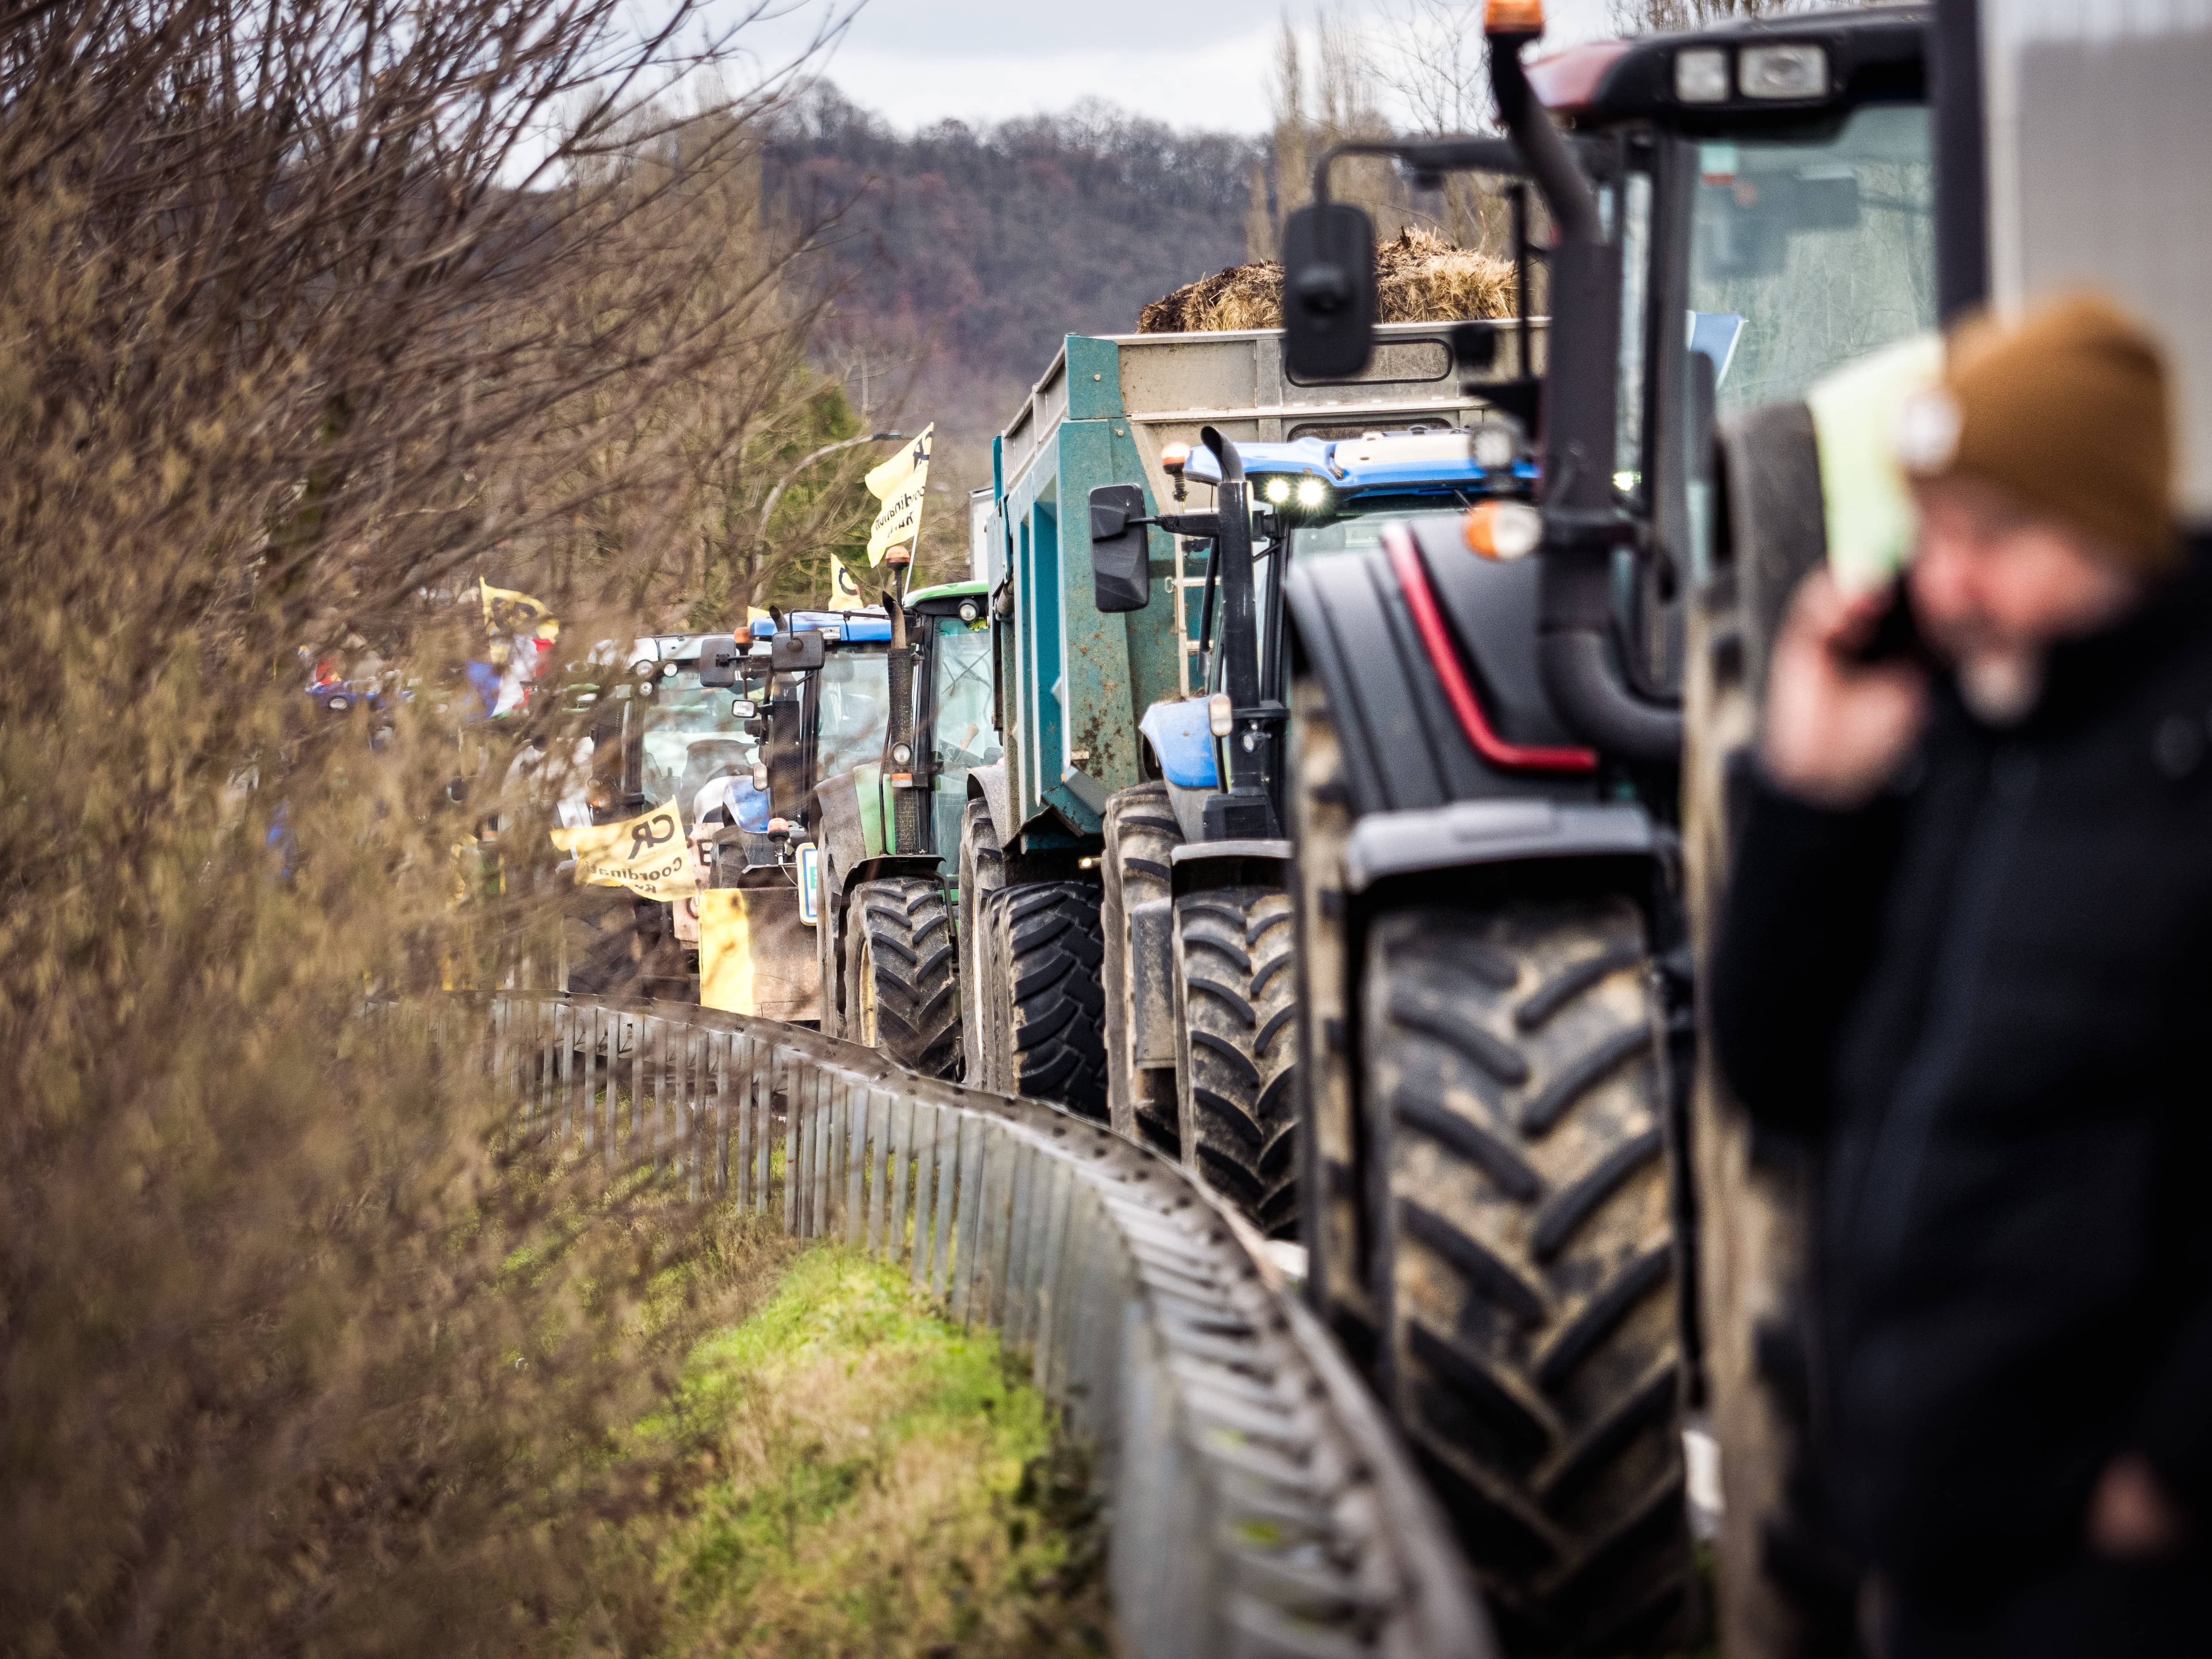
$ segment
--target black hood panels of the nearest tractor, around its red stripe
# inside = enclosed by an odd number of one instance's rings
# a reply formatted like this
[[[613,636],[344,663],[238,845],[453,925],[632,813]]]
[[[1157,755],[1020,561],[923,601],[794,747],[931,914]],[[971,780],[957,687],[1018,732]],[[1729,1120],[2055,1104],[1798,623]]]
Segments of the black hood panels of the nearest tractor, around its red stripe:
[[[1413,538],[1460,672],[1500,743],[1566,750],[1537,666],[1537,560],[1482,560],[1451,520],[1416,520]],[[1321,681],[1343,739],[1356,816],[1453,801],[1597,801],[1595,770],[1502,765],[1480,754],[1453,712],[1389,549],[1292,566],[1290,644]]]

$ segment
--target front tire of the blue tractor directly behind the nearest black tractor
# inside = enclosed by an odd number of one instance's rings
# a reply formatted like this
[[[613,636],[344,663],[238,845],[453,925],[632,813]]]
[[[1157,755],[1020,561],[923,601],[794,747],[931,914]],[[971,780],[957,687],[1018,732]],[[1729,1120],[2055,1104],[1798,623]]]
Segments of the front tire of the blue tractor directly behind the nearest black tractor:
[[[1183,1161],[1274,1239],[1298,1237],[1296,951],[1290,894],[1175,900],[1175,1084]]]

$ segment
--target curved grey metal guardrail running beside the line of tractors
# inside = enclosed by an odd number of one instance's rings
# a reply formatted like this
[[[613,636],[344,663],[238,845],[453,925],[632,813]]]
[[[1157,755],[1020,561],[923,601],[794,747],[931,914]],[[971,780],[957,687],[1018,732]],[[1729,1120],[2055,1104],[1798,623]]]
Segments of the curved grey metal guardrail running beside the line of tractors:
[[[1026,1352],[1097,1449],[1126,1652],[1498,1652],[1378,1407],[1256,1234],[1175,1164],[770,1020],[540,995],[491,1018],[533,1126],[905,1261],[951,1318]]]

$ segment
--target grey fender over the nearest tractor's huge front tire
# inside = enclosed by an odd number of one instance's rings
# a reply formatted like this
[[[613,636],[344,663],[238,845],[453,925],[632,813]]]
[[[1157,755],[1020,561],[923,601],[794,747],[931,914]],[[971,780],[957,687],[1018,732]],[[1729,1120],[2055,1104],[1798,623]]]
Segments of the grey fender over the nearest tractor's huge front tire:
[[[1639,805],[1573,801],[1455,801],[1376,812],[1345,841],[1345,889],[1394,876],[1555,858],[1661,858],[1661,834]]]

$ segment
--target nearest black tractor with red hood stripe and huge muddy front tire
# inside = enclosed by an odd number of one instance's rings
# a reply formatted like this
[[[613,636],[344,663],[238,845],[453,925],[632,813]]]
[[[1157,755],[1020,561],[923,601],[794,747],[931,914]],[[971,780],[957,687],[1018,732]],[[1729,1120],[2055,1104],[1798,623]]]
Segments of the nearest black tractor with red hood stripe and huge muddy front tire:
[[[1787,1197],[1787,1157],[1721,1121],[1703,1075],[1692,1124],[1714,847],[1692,807],[1686,883],[1681,706],[1688,799],[1717,799],[1699,677],[1763,672],[1785,575],[1741,557],[1747,515],[1776,549],[1805,529],[1772,518],[1739,411],[1936,321],[1924,22],[1787,15],[1526,71],[1531,33],[1500,27],[1509,139],[1391,146],[1416,173],[1517,173],[1551,208],[1551,354],[1522,392],[1544,482],[1537,513],[1407,522],[1292,573],[1305,1239],[1318,1312],[1522,1650],[1683,1637],[1681,1427],[1708,1378],[1723,1590],[1763,1562],[1761,1617],[1849,1637],[1854,1575],[1807,1471],[1778,1500],[1792,1310],[1756,1303],[1754,1329],[1728,1279],[1794,1252],[1790,1206],[1752,1201]],[[1358,361],[1367,305],[1365,226],[1323,186],[1285,232],[1307,374]]]

